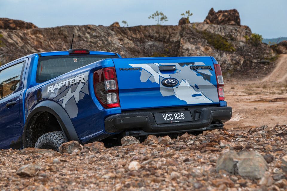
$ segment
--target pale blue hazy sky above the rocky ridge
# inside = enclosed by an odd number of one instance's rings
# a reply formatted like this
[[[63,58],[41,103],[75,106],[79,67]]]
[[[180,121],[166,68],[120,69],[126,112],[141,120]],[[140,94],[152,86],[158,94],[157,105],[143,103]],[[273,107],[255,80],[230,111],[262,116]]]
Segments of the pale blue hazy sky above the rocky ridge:
[[[181,13],[190,10],[190,22],[203,22],[210,8],[237,9],[241,25],[263,38],[287,36],[287,0],[0,0],[0,18],[32,22],[38,27],[63,25],[109,26],[123,20],[129,26],[153,25],[155,11],[168,18],[165,25],[177,25]]]

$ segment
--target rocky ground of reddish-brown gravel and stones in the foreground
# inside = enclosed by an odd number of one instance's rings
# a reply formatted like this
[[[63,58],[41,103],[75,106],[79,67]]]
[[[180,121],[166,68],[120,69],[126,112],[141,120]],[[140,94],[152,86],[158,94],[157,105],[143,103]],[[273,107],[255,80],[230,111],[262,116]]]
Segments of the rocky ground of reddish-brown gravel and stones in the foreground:
[[[286,190],[287,126],[0,150],[0,190]],[[71,154],[68,154],[71,153]],[[285,157],[284,157],[285,156]]]

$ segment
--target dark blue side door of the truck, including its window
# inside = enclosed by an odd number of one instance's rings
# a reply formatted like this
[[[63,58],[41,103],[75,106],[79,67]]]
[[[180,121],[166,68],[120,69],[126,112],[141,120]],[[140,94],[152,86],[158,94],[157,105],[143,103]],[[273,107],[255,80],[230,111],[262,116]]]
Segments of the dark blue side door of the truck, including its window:
[[[22,61],[0,71],[0,149],[22,147],[19,100],[24,64]]]

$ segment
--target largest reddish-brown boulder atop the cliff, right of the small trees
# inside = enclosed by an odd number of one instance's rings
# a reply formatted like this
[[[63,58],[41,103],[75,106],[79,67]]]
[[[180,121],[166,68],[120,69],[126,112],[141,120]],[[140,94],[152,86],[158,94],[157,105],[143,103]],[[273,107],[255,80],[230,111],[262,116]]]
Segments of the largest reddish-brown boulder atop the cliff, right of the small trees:
[[[240,17],[236,9],[219,10],[218,12],[215,12],[213,8],[211,8],[203,22],[206,24],[229,24],[240,26]]]

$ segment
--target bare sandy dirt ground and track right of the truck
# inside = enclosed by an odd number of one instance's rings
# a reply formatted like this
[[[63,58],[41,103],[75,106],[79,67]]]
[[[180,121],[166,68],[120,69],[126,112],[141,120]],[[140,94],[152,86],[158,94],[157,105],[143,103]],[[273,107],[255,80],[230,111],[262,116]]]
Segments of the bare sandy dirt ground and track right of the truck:
[[[287,55],[282,54],[270,75],[256,80],[225,80],[225,100],[233,116],[225,127],[246,130],[287,124]]]

